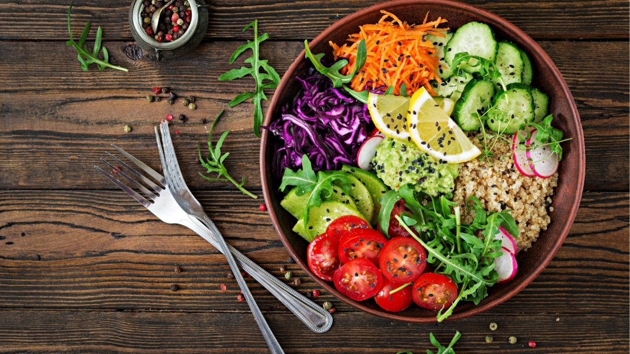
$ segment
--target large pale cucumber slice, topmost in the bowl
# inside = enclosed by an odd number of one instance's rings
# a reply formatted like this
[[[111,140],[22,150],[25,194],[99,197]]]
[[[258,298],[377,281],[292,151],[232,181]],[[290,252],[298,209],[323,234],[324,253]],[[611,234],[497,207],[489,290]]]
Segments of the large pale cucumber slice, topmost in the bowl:
[[[496,57],[497,43],[495,33],[485,23],[469,22],[461,26],[446,43],[445,59],[449,66],[453,66],[453,60],[457,53],[468,53],[491,61]],[[462,62],[460,69],[467,72],[479,72],[481,66],[469,66],[477,64],[478,60],[472,59],[470,63]]]

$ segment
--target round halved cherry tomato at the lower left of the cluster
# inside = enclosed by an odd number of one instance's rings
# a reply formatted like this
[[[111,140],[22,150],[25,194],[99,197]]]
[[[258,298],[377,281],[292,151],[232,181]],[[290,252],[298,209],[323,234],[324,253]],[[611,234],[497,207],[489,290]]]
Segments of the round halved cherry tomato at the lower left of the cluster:
[[[355,258],[335,271],[333,282],[341,294],[361,301],[381,290],[383,276],[372,262],[365,258]]]

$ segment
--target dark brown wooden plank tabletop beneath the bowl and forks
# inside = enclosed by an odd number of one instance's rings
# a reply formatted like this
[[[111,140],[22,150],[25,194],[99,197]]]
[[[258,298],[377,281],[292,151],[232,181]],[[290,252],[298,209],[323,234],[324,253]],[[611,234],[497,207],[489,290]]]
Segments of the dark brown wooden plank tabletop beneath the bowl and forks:
[[[628,3],[468,1],[512,21],[551,56],[575,97],[585,134],[587,173],[571,232],[546,270],[491,311],[441,324],[391,322],[333,302],[335,323],[314,334],[253,279],[247,282],[286,353],[423,353],[433,332],[457,353],[627,353],[629,350],[629,18]],[[266,345],[224,257],[180,226],[164,224],[93,168],[115,143],[157,168],[153,127],[173,121],[180,166],[229,243],[282,278],[286,266],[302,294],[318,285],[295,264],[266,212],[228,183],[198,175],[197,142],[223,109],[231,130],[227,168],[261,196],[251,104],[227,108],[250,79],[219,83],[231,53],[260,20],[272,38],[261,56],[282,75],[313,38],[374,1],[210,1],[201,45],[178,60],[133,60],[129,1],[79,0],[72,14],[103,27],[110,61],[129,72],[84,72],[66,47],[66,1],[0,6],[0,351],[14,353],[264,353]],[[90,44],[91,45],[91,44]],[[240,64],[240,63],[237,63]],[[197,97],[190,111],[148,103],[153,86]],[[125,125],[133,131],[123,132]],[[181,272],[175,268],[180,267]],[[171,284],[179,290],[171,291]],[[227,287],[221,290],[221,285]],[[498,330],[488,329],[491,322]],[[486,335],[495,341],[485,343]],[[508,336],[518,343],[508,344]],[[537,348],[528,348],[528,341]]]

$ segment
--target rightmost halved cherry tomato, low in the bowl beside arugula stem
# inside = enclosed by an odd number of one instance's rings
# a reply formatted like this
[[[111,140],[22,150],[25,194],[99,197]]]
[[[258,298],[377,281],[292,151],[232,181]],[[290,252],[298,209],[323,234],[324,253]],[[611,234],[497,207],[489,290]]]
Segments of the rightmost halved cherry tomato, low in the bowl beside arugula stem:
[[[413,301],[430,310],[447,308],[457,299],[457,285],[449,277],[424,273],[413,282]]]

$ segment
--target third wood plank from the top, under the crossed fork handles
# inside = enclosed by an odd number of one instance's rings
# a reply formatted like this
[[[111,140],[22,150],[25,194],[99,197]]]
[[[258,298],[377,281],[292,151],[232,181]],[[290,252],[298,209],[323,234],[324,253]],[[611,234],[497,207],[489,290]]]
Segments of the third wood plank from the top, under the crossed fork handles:
[[[564,246],[499,312],[628,314],[628,197],[584,193]],[[279,278],[286,265],[301,278],[295,288],[302,294],[319,289],[287,263],[260,202],[234,191],[197,198],[234,247]],[[221,254],[187,229],[160,222],[122,191],[0,191],[0,215],[0,309],[248,311],[236,302],[238,285],[227,279]],[[183,271],[175,273],[175,266]],[[181,289],[172,292],[173,283]],[[286,312],[255,280],[248,283],[262,309]],[[317,298],[326,300],[356,312],[326,292]]]

